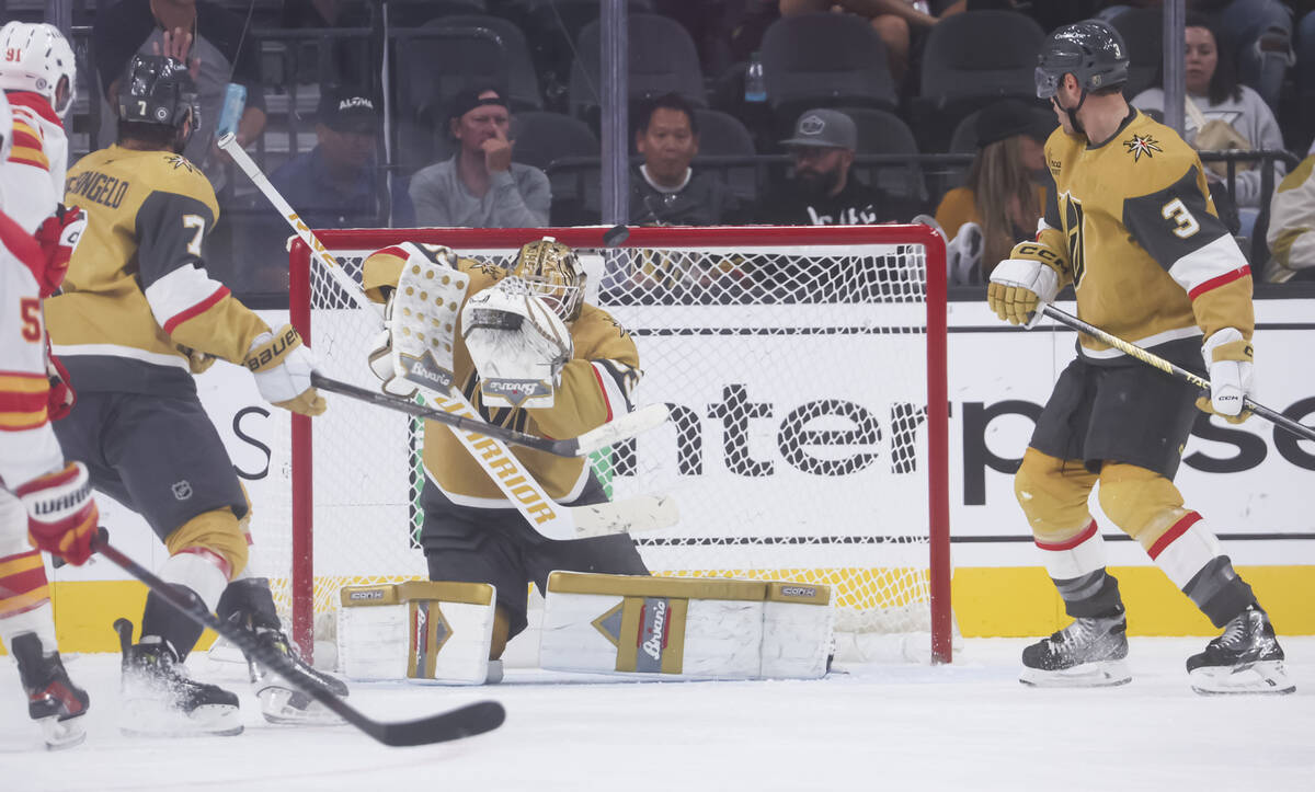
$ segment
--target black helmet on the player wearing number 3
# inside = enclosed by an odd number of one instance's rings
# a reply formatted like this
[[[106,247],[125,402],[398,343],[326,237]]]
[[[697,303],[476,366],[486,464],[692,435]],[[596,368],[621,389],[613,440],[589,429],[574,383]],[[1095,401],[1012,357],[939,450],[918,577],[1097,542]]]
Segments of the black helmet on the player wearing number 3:
[[[1036,96],[1055,96],[1065,74],[1077,78],[1084,92],[1128,82],[1123,37],[1101,20],[1084,20],[1051,33],[1036,57]]]

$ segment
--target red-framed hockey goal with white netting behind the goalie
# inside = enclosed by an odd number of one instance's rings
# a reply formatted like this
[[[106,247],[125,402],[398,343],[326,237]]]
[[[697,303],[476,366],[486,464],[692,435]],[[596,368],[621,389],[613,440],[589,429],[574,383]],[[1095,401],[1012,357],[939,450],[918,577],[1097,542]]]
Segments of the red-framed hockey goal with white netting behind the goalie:
[[[898,634],[949,662],[942,238],[922,225],[634,228],[609,247],[606,230],[317,235],[358,283],[364,257],[404,241],[502,267],[543,235],[576,249],[586,300],[639,349],[636,404],[672,407],[668,424],[590,459],[613,499],[675,499],[677,525],[633,534],[650,570],[825,583],[838,642]],[[379,316],[312,258],[293,243],[292,322],[327,376],[377,388],[367,357]],[[423,426],[327,399],[313,420],[275,410],[291,432],[276,425],[252,525],[308,654],[342,585],[427,575],[416,542]]]

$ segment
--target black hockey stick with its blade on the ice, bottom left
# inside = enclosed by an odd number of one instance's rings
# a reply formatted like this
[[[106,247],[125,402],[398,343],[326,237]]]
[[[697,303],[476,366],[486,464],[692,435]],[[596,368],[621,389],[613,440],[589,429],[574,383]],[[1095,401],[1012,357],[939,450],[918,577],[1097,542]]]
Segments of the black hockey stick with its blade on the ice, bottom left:
[[[153,592],[178,608],[192,621],[210,628],[256,662],[279,674],[288,684],[342,717],[352,726],[391,746],[430,745],[492,731],[506,720],[506,710],[497,701],[476,701],[447,712],[414,721],[376,721],[338,696],[305,679],[305,675],[277,651],[256,643],[247,633],[225,624],[206,609],[189,589],[179,589],[164,583],[146,567],[121,553],[108,541],[97,538],[92,547],[114,562],[125,572],[145,583]],[[187,592],[187,593],[184,593]]]

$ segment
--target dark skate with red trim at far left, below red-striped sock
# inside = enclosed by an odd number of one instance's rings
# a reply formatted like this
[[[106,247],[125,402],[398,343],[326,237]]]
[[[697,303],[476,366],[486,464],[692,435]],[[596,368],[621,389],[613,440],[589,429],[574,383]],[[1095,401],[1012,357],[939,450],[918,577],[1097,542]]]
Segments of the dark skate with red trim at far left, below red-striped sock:
[[[59,653],[45,654],[34,633],[16,637],[11,653],[28,693],[28,716],[41,726],[46,749],[70,749],[87,739],[82,716],[87,714],[87,691],[68,680]]]

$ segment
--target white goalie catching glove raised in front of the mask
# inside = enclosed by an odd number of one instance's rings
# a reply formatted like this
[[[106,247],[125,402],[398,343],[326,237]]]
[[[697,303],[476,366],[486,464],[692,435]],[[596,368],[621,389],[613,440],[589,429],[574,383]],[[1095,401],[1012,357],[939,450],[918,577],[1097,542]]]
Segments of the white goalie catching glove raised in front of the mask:
[[[552,407],[575,345],[565,322],[525,280],[504,278],[462,309],[462,335],[489,407]]]

